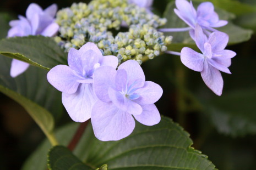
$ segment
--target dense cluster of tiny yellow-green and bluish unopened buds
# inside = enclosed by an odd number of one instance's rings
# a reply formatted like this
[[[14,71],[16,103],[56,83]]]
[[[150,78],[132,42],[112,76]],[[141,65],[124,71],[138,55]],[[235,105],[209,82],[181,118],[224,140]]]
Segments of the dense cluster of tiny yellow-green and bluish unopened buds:
[[[141,64],[143,56],[154,58],[167,50],[172,40],[156,30],[166,19],[126,0],[74,3],[70,8],[59,10],[56,22],[60,25],[56,42],[67,52],[93,42],[102,54],[117,56],[119,64],[129,59]],[[129,26],[129,30],[118,33],[123,24]]]

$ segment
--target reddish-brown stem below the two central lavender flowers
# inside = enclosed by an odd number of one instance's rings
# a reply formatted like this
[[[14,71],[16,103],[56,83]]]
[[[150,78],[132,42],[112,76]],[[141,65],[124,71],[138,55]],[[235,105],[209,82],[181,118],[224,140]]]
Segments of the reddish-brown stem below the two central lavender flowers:
[[[75,149],[75,146],[77,146],[79,140],[81,139],[82,135],[84,134],[85,128],[87,127],[89,121],[80,123],[77,132],[75,132],[73,138],[70,140],[68,144],[68,149],[70,151],[73,151]]]

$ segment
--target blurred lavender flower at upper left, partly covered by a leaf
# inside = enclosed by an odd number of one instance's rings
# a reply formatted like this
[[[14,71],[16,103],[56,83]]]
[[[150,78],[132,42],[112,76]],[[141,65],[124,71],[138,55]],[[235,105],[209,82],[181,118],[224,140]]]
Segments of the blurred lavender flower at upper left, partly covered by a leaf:
[[[45,10],[42,10],[39,5],[31,3],[26,10],[26,18],[19,15],[19,20],[9,22],[12,28],[8,31],[8,37],[23,37],[29,35],[54,36],[59,29],[54,19],[56,12],[56,4],[52,4]],[[13,59],[10,68],[10,76],[16,77],[26,71],[28,67],[28,63]]]

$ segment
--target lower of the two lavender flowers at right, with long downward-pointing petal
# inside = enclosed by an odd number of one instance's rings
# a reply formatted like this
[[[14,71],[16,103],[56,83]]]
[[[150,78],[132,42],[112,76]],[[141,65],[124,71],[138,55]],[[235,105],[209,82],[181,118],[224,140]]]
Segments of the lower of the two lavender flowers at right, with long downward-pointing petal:
[[[236,53],[226,50],[228,35],[224,32],[213,32],[207,38],[199,25],[195,26],[195,43],[203,54],[184,47],[181,50],[181,61],[189,69],[201,72],[205,84],[217,95],[223,88],[222,72],[231,73],[227,67]],[[220,70],[220,71],[219,71]]]

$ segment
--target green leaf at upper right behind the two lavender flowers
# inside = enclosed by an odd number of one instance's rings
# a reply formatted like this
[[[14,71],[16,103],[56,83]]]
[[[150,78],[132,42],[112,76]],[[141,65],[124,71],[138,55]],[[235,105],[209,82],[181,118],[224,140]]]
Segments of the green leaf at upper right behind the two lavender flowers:
[[[195,2],[194,5],[197,6],[199,3]],[[173,9],[175,9],[175,2],[168,3],[164,17],[167,19],[167,24],[164,26],[165,28],[182,28],[188,27],[186,23],[178,18],[178,16],[174,13]],[[235,16],[221,10],[219,8],[216,9],[216,12],[219,14],[220,19],[228,20],[233,19]],[[230,36],[228,44],[237,44],[244,41],[247,41],[252,35],[251,30],[243,29],[242,27],[236,26],[232,24],[231,21],[219,29],[222,32],[225,32]],[[173,36],[172,43],[168,46],[168,50],[176,50],[180,51],[183,47],[190,47],[197,49],[196,44],[190,38],[188,31],[187,32],[166,32],[165,35]]]

